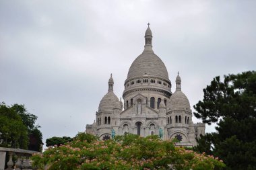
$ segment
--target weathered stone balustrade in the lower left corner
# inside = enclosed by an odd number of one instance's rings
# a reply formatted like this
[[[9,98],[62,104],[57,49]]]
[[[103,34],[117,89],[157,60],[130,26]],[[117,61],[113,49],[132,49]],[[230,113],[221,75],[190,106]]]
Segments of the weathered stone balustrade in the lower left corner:
[[[32,154],[38,153],[20,148],[3,148],[0,147],[0,170],[34,170],[31,165],[30,157]],[[9,160],[6,161],[9,155]],[[15,162],[13,163],[13,157]],[[6,165],[5,165],[5,162]],[[5,169],[7,167],[7,169]]]

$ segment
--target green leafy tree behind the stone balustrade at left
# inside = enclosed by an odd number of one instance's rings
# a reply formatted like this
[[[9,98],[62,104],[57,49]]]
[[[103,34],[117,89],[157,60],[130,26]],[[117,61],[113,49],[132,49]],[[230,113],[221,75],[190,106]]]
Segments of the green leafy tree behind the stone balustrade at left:
[[[42,133],[35,126],[37,117],[28,113],[25,105],[0,104],[0,146],[40,151]]]

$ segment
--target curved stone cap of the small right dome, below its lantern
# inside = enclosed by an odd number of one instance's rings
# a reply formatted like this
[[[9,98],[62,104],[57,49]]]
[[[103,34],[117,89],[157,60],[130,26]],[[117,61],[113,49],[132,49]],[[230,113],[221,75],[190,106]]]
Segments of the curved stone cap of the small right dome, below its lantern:
[[[175,91],[167,103],[167,111],[190,110],[189,99],[182,91]]]

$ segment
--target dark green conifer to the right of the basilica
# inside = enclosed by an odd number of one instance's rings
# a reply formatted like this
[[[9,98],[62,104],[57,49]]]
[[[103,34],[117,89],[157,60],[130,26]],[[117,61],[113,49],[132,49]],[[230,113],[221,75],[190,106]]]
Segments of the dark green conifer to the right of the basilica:
[[[217,122],[217,132],[201,136],[196,151],[223,159],[226,169],[256,169],[256,73],[215,77],[203,89],[194,115]]]

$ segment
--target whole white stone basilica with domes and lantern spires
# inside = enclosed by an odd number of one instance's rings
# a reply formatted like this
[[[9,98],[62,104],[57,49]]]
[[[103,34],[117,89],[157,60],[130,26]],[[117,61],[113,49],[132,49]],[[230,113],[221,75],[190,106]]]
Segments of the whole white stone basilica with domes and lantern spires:
[[[195,146],[195,138],[205,134],[205,124],[192,122],[189,100],[181,90],[178,73],[174,93],[164,62],[152,49],[149,24],[143,52],[129,68],[123,101],[114,93],[114,79],[108,80],[108,92],[102,97],[96,121],[86,125],[86,133],[102,140],[127,133],[159,135],[163,140],[177,138],[180,146]]]

